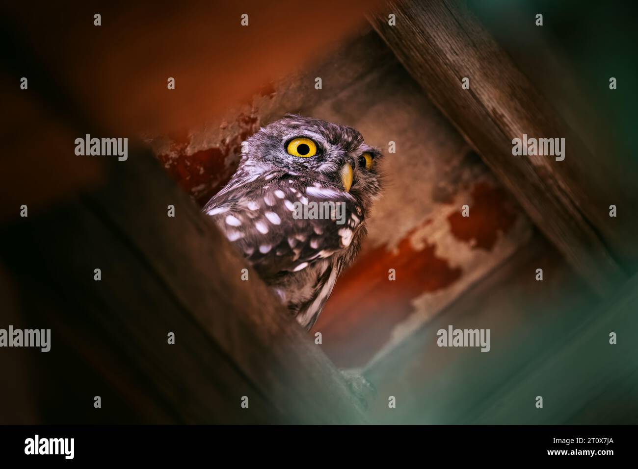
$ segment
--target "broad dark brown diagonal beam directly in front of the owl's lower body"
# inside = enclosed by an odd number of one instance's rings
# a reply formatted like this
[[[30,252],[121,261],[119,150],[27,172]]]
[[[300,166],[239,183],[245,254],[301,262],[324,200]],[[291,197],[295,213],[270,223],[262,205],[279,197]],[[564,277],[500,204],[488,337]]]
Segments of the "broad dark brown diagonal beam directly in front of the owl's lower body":
[[[242,282],[249,266],[149,152],[130,151],[107,187],[2,237],[22,294],[46,299],[26,301],[26,314],[41,310],[145,419],[364,421],[341,373],[254,272]]]

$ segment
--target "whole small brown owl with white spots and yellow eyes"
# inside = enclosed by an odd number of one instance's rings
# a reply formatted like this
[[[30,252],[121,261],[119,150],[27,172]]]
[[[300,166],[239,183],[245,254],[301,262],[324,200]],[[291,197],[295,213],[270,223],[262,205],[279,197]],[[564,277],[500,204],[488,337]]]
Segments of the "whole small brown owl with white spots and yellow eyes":
[[[359,252],[380,157],[352,127],[286,115],[248,138],[204,207],[306,329]]]

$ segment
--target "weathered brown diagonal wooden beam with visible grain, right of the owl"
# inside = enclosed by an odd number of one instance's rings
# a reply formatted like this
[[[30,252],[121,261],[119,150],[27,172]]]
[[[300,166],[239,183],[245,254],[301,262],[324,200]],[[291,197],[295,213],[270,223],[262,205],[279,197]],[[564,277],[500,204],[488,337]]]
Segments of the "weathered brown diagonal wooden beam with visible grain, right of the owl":
[[[602,295],[626,280],[600,235],[609,208],[591,204],[593,188],[579,184],[589,150],[464,5],[395,1],[371,24],[575,271]],[[512,155],[523,134],[565,138],[565,160]]]

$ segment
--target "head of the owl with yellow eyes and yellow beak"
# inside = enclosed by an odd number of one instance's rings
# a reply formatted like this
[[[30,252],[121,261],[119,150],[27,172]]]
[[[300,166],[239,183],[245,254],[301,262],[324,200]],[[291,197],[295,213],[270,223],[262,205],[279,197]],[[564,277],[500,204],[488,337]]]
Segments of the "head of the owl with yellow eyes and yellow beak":
[[[286,171],[348,192],[367,206],[380,193],[381,157],[352,127],[288,114],[248,138],[239,170],[253,176]]]

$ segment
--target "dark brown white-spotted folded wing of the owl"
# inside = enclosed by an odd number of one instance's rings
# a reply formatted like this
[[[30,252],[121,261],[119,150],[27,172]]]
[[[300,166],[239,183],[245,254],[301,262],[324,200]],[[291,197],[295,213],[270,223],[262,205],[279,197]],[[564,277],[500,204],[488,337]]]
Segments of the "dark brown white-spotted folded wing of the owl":
[[[327,185],[281,173],[234,185],[204,211],[262,277],[300,271],[333,256],[350,245],[361,226],[362,207]]]

